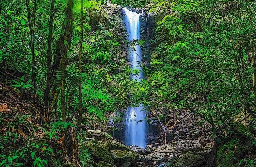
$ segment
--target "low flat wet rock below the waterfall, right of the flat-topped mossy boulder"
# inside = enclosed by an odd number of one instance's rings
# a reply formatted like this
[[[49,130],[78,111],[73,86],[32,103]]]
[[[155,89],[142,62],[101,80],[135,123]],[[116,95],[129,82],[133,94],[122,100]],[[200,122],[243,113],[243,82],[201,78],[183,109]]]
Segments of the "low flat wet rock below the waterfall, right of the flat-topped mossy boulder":
[[[161,162],[165,161],[165,157],[151,153],[147,155],[139,155],[138,161],[148,165],[159,165]]]

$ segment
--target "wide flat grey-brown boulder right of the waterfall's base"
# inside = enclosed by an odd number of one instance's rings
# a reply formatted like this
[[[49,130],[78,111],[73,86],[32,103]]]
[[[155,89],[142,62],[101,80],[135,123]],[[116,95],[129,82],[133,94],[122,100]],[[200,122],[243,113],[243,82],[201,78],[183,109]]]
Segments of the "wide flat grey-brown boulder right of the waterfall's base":
[[[189,151],[199,152],[200,150],[202,150],[202,145],[198,140],[184,139],[184,140],[168,143],[166,145],[162,145],[157,149],[155,149],[154,153],[168,157],[173,154],[185,154]]]

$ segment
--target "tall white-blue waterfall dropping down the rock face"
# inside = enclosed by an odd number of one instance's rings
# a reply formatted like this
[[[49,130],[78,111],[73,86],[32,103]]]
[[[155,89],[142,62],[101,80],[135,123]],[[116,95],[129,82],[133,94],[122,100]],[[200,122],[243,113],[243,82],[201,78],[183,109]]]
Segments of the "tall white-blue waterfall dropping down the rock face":
[[[136,12],[129,11],[123,8],[125,11],[124,22],[127,29],[127,40],[139,40],[140,39],[140,15]],[[142,62],[142,50],[139,45],[136,45],[134,49],[128,49],[129,61],[131,63],[132,69],[140,70],[138,75],[130,75],[130,79],[134,79],[140,82],[144,78],[140,63]],[[124,120],[125,129],[123,131],[123,141],[126,145],[137,145],[139,147],[145,148],[147,144],[146,140],[146,130],[147,123],[144,120],[145,114],[143,107],[128,107],[126,112],[126,117]]]

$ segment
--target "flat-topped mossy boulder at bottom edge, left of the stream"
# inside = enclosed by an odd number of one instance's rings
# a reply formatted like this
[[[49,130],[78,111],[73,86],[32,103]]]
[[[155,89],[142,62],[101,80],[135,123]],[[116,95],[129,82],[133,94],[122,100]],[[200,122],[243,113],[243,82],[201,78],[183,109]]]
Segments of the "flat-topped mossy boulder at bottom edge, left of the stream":
[[[130,167],[138,160],[138,154],[128,150],[111,150],[114,156],[114,164],[120,167]]]

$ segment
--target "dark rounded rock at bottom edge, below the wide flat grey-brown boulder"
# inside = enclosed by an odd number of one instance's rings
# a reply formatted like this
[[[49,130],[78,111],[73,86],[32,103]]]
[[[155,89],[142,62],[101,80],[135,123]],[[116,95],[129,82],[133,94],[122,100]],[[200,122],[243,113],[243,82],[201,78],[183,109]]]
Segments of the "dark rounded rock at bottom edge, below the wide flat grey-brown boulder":
[[[204,167],[206,159],[195,151],[187,152],[173,167]]]

